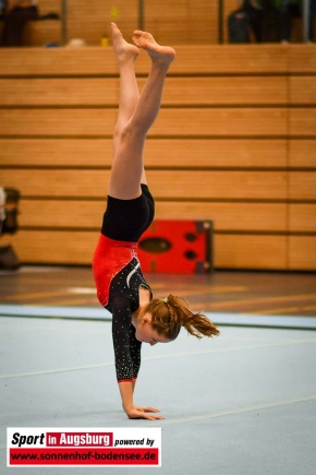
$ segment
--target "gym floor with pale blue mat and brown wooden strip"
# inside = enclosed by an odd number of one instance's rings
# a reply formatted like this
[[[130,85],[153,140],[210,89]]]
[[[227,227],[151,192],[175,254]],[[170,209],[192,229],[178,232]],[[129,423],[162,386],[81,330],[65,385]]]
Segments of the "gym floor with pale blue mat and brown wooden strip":
[[[121,409],[110,316],[89,269],[0,272],[0,474],[315,474],[315,273],[147,281],[155,296],[185,296],[221,331],[143,345],[135,402],[159,407],[159,421]],[[7,427],[161,427],[162,466],[7,468]]]

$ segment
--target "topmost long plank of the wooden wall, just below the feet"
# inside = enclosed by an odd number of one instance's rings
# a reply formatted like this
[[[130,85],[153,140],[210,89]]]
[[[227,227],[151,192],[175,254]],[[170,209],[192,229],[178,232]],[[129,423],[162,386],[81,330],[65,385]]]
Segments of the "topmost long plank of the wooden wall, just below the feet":
[[[197,55],[196,46],[180,45],[169,75],[229,75],[232,83],[231,75],[284,75],[288,51],[282,45],[200,45]],[[137,74],[147,75],[149,66],[148,55],[141,51]],[[3,48],[0,55],[1,78],[100,74],[118,74],[112,48]]]

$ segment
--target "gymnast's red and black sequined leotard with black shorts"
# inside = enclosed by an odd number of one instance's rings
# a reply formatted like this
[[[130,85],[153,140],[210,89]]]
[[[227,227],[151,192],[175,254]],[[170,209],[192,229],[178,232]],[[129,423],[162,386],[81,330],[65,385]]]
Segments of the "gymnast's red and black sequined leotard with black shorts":
[[[153,293],[137,259],[137,241],[154,218],[154,199],[146,185],[134,200],[108,197],[108,206],[93,270],[100,304],[112,313],[118,381],[138,375],[142,343],[135,337],[132,313],[139,307],[139,287]]]

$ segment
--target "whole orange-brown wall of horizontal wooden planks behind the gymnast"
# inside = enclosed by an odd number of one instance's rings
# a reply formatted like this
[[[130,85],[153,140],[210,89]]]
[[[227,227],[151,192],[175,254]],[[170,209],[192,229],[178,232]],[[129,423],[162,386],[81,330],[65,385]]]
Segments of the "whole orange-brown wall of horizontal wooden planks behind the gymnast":
[[[180,16],[193,8],[175,3]],[[177,50],[145,147],[157,218],[212,219],[217,268],[315,270],[314,48]],[[141,88],[148,68],[142,51]],[[111,48],[2,48],[0,185],[22,198],[21,228],[1,245],[23,262],[90,263],[118,95]]]

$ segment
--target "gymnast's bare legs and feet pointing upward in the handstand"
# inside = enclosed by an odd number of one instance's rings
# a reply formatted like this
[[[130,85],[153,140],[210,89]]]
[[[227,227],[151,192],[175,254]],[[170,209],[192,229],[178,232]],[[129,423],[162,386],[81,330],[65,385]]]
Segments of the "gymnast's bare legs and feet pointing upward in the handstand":
[[[168,46],[159,46],[149,33],[141,31],[133,35],[136,46],[130,45],[114,24],[112,37],[121,82],[109,194],[132,200],[141,195],[141,182],[146,183],[143,161],[145,139],[159,112],[165,79],[175,52]],[[141,96],[134,71],[138,48],[147,50],[151,59],[151,69]]]

